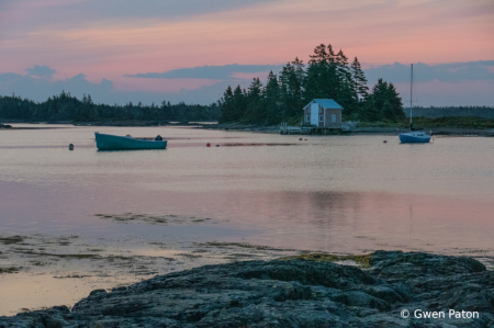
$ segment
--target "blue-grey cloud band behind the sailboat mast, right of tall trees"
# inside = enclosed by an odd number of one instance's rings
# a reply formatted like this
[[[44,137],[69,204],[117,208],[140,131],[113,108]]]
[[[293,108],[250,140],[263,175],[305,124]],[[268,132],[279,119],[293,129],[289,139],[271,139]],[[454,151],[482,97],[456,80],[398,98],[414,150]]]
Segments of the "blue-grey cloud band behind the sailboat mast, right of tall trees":
[[[414,81],[445,81],[461,82],[473,80],[494,80],[494,60],[479,60],[468,63],[427,65],[424,63],[414,64]],[[371,83],[375,83],[382,78],[389,82],[408,82],[409,65],[394,63],[374,68],[364,69],[366,77]]]

